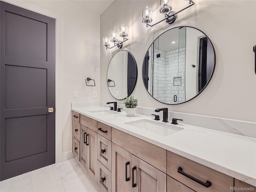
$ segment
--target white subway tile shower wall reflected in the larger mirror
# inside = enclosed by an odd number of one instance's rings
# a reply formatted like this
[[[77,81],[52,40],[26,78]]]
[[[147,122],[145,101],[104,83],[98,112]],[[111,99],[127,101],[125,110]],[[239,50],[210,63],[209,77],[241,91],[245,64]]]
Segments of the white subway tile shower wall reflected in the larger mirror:
[[[157,55],[160,57],[157,58]],[[154,47],[154,62],[151,68],[153,97],[166,104],[185,102],[186,48],[164,52]],[[176,100],[174,101],[174,96]]]

